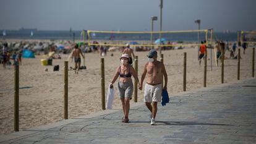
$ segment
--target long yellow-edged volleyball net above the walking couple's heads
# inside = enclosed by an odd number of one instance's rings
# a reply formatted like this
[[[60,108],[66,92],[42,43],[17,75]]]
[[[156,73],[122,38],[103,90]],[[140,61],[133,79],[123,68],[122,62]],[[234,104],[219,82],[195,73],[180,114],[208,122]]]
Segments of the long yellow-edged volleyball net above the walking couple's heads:
[[[199,33],[199,37],[198,37]],[[161,32],[83,30],[81,39],[89,46],[198,46],[201,41],[212,44],[213,30],[179,30]],[[160,38],[161,35],[161,39]],[[199,43],[198,43],[199,40]]]

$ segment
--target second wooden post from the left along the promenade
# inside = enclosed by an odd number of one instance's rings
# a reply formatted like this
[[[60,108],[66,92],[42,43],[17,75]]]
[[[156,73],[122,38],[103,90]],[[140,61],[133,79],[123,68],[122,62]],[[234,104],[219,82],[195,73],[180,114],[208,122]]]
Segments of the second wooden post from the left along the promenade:
[[[68,119],[69,62],[64,62],[64,119]]]

